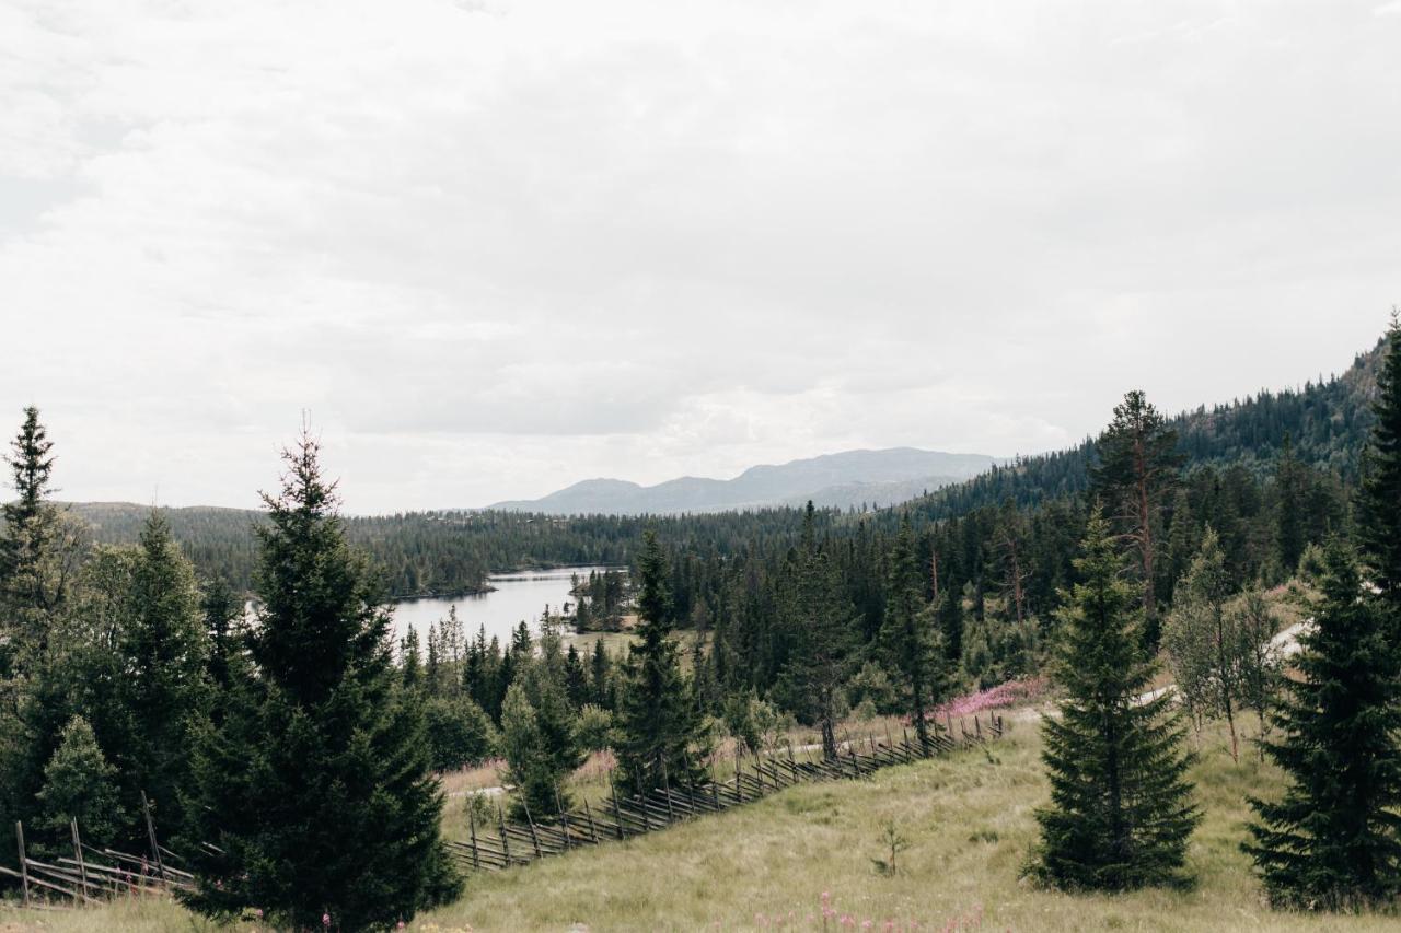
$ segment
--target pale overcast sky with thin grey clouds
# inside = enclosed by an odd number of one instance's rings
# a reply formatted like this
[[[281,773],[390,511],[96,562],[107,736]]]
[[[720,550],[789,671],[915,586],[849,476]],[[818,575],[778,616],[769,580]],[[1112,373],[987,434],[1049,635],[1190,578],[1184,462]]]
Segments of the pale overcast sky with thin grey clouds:
[[[1401,0],[0,0],[0,431],[352,513],[1073,444],[1401,303]],[[8,415],[6,415],[8,412]]]

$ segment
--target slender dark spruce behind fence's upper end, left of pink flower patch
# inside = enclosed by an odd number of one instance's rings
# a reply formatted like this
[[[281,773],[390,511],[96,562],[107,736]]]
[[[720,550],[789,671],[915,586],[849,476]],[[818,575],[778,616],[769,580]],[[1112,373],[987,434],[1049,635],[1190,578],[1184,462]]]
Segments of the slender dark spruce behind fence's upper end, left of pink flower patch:
[[[906,709],[919,741],[929,738],[929,710],[947,679],[934,614],[925,604],[925,576],[920,570],[915,532],[906,516],[891,545],[885,580],[885,618],[881,647],[905,688]]]

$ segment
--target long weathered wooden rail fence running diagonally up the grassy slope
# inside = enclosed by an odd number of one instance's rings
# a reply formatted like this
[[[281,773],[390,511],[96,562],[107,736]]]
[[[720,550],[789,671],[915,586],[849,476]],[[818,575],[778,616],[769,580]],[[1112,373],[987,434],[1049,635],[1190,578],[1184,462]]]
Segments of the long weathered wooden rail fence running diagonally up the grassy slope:
[[[888,733],[884,741],[874,735],[863,741],[846,737],[831,759],[813,755],[799,759],[792,747],[786,755],[748,761],[736,758],[734,778],[672,787],[663,776],[664,786],[644,796],[622,797],[609,779],[611,794],[597,808],[584,801],[574,810],[559,807],[553,814],[538,814],[539,820],[527,808],[524,822],[507,820],[497,804],[495,820],[483,824],[469,806],[468,838],[451,839],[447,845],[465,870],[500,871],[572,849],[665,829],[708,813],[752,803],[793,785],[860,779],[890,765],[947,755],[1000,738],[1006,730],[1002,716],[996,714],[989,714],[986,724],[975,716],[972,730],[964,721],[958,721],[957,727],[955,733],[953,721],[933,726],[923,741],[912,738],[908,730],[899,740]]]

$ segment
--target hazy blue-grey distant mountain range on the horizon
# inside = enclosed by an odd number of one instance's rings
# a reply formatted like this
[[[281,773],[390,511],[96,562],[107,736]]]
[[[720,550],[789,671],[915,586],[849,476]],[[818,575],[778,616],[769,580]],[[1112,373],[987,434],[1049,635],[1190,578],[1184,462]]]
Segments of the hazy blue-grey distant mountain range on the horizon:
[[[991,469],[985,454],[944,454],[913,447],[849,450],[778,466],[751,466],[734,479],[682,476],[656,486],[625,479],[586,479],[544,499],[499,502],[492,509],[552,516],[679,514],[768,506],[883,504],[913,499]]]

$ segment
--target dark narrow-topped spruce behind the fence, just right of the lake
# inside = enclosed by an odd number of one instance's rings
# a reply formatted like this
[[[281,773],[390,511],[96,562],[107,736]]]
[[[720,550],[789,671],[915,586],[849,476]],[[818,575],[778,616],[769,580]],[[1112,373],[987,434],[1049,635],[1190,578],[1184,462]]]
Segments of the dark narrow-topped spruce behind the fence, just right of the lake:
[[[671,639],[671,591],[665,555],[650,528],[637,560],[639,644],[629,649],[619,698],[618,769],[623,786],[646,793],[668,783],[684,787],[702,776],[696,748],[702,717],[681,674],[681,657]]]

